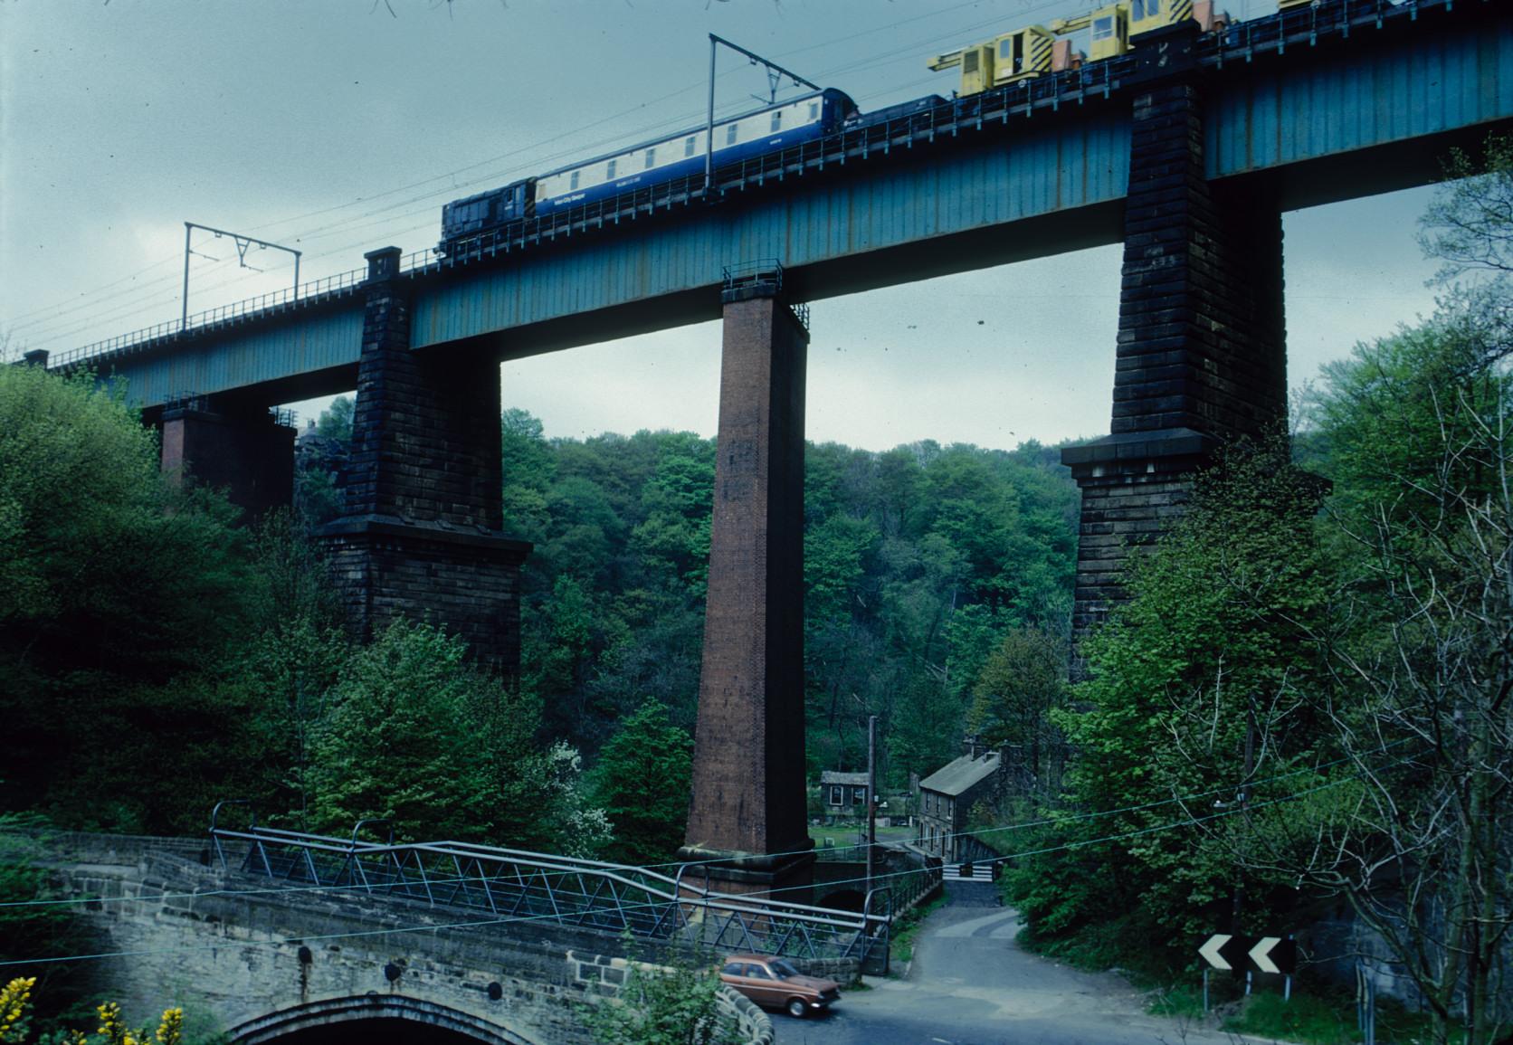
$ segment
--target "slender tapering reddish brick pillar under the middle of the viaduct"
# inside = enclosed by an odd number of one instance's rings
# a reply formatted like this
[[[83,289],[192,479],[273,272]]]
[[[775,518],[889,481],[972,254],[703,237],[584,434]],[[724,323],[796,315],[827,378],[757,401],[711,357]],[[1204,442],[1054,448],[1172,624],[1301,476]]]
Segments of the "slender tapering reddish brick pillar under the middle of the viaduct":
[[[808,883],[803,398],[808,331],[776,287],[728,290],[693,803],[717,888]],[[781,898],[802,898],[782,894]]]

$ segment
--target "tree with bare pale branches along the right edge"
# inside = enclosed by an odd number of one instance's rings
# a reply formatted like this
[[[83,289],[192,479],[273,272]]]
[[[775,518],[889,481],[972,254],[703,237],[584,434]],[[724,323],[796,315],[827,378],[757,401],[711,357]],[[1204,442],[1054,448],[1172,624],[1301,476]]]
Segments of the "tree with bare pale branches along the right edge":
[[[1459,195],[1456,191],[1454,195]],[[1490,251],[1492,248],[1489,248]],[[1334,366],[1318,423],[1353,547],[1319,702],[1345,770],[1242,857],[1345,897],[1418,986],[1434,1040],[1513,1019],[1513,339],[1442,312]]]

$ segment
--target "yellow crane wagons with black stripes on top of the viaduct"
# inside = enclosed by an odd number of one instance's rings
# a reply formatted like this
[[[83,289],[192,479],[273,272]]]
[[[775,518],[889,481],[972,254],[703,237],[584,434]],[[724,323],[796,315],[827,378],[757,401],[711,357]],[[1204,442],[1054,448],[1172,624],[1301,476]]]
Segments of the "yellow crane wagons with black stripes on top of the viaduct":
[[[1062,38],[1083,29],[1089,30],[1088,59],[1101,62],[1127,54],[1141,33],[1188,18],[1197,20],[1204,32],[1212,32],[1226,21],[1215,17],[1213,0],[1120,0],[1085,15],[1056,18],[1049,26],[1024,26],[980,44],[937,54],[929,67],[937,73],[961,68],[961,88],[956,94],[977,94],[1026,77],[1077,68],[1083,56]]]

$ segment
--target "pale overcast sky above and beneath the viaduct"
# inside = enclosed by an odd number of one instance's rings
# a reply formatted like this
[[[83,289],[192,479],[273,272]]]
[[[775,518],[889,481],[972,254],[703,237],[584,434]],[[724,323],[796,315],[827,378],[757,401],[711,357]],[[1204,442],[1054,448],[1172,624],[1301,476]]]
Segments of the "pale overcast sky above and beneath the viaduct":
[[[176,319],[185,221],[301,278],[439,237],[448,200],[702,119],[708,33],[862,109],[949,94],[930,54],[1070,0],[0,0],[0,339],[65,351]],[[392,15],[390,15],[392,8]],[[1260,15],[1274,0],[1236,0]],[[722,109],[761,73],[722,56]],[[1289,377],[1433,309],[1427,191],[1286,216]],[[197,312],[287,286],[200,237]],[[1118,248],[814,302],[809,439],[1011,448],[1108,431]],[[979,322],[980,321],[980,322]],[[719,325],[502,367],[548,436],[713,434]],[[301,404],[312,414],[321,404]]]

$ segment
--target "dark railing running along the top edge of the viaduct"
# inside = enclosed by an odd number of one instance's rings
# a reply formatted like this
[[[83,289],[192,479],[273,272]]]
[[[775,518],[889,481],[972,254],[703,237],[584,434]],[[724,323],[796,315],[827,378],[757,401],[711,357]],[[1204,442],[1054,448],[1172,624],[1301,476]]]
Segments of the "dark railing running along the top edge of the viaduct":
[[[1463,5],[1489,5],[1492,2],[1462,0]],[[1359,29],[1381,29],[1389,23],[1416,21],[1421,12],[1451,11],[1454,3],[1456,0],[1318,0],[1307,8],[1250,18],[1226,27],[1221,33],[1210,33],[1198,42],[1195,57],[1200,65],[1223,68],[1235,60],[1254,60],[1259,54],[1280,54],[1288,47],[1309,47],[1328,38],[1348,39],[1351,32]],[[763,186],[769,180],[781,181],[790,175],[803,175],[832,165],[844,165],[847,160],[865,160],[873,154],[885,156],[894,148],[914,148],[941,136],[955,138],[964,130],[982,130],[993,122],[1008,122],[1014,116],[1030,116],[1042,109],[1055,112],[1064,104],[1083,104],[1089,98],[1106,98],[1120,89],[1136,68],[1135,57],[1126,54],[1091,62],[1076,70],[1018,80],[962,98],[941,100],[935,106],[876,122],[862,119],[856,126],[844,127],[820,139],[719,166],[710,186],[705,186],[701,172],[578,207],[566,207],[557,213],[525,218],[451,243],[445,254],[437,250],[415,251],[404,256],[401,272],[412,277],[439,272],[498,254],[552,243],[607,225],[637,221],[658,210],[687,207],[694,203],[714,203],[731,192]],[[300,284],[295,289],[207,309],[194,313],[188,321],[162,322],[70,349],[53,357],[48,366],[71,366],[107,352],[139,348],[179,334],[354,293],[366,277],[366,269],[350,269]]]

